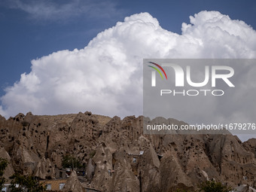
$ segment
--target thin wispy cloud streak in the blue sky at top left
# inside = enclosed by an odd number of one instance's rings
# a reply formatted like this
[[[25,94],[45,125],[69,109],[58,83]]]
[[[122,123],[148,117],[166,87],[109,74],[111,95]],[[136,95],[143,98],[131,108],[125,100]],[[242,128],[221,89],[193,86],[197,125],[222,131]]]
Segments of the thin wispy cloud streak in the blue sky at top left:
[[[109,18],[116,13],[115,5],[110,1],[72,0],[65,2],[40,0],[11,0],[5,2],[9,8],[19,9],[29,14],[32,20],[59,21],[84,15],[92,18]]]

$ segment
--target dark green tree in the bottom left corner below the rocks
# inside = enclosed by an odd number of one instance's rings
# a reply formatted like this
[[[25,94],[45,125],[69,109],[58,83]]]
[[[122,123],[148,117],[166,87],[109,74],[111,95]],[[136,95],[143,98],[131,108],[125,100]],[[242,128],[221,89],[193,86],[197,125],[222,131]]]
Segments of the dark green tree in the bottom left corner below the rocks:
[[[32,176],[20,175],[15,173],[10,177],[11,181],[11,192],[42,192],[45,191],[45,187],[39,184],[38,181],[32,178]]]

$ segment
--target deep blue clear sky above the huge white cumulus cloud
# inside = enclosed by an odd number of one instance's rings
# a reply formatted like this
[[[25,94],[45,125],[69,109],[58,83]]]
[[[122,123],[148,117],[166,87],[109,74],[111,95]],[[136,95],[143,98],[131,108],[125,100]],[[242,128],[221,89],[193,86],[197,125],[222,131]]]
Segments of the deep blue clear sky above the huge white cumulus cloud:
[[[199,11],[220,11],[231,19],[243,20],[256,29],[256,2],[245,1],[41,1],[44,6],[61,9],[63,5],[77,4],[59,14],[38,14],[20,8],[17,1],[0,2],[0,96],[4,89],[20,80],[23,72],[29,73],[32,59],[57,50],[84,48],[104,29],[114,26],[124,17],[148,12],[156,17],[163,29],[181,33],[181,23]],[[37,6],[40,1],[18,1]],[[103,3],[105,2],[105,3]],[[21,4],[20,3],[20,4]],[[103,5],[102,5],[103,3]],[[82,6],[95,10],[78,11]]]

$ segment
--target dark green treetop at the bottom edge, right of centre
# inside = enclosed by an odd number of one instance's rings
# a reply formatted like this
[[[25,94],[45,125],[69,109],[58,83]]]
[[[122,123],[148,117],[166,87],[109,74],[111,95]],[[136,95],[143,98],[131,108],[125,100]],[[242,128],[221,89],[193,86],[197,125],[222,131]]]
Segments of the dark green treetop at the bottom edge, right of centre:
[[[198,186],[200,192],[229,192],[232,187],[221,184],[221,182],[216,181],[204,181]]]

